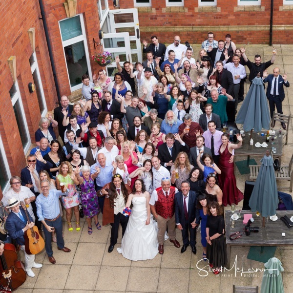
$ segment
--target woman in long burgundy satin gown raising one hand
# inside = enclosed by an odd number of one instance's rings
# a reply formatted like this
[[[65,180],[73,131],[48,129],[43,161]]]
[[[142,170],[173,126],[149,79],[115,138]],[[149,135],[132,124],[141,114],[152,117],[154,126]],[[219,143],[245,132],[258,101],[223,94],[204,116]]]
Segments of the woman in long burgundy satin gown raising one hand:
[[[232,150],[242,146],[242,137],[237,134],[237,145],[229,142],[229,134],[222,135],[222,145],[219,149],[219,168],[222,173],[218,175],[219,186],[223,191],[223,206],[235,204],[237,205],[243,199],[243,193],[236,186],[236,178],[234,174],[234,163],[229,163]]]

